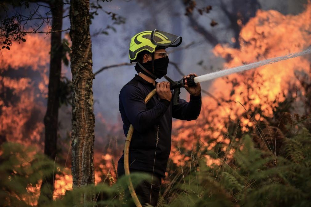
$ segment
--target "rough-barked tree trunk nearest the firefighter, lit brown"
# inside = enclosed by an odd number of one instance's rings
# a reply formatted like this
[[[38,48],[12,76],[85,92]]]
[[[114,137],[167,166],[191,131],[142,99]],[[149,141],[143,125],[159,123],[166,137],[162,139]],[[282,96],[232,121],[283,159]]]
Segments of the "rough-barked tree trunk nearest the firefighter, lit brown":
[[[94,124],[92,48],[89,0],[71,0],[70,38],[72,41],[72,179],[73,188],[94,183]],[[84,196],[87,201],[93,196]],[[86,201],[84,200],[84,201]],[[77,198],[83,202],[83,197]]]

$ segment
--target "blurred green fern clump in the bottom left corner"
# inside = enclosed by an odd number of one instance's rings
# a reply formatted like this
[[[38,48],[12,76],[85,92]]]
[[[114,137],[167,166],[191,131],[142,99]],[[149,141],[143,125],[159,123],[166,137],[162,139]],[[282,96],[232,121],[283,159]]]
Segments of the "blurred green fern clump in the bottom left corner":
[[[36,192],[27,190],[40,185],[44,176],[51,175],[54,163],[36,154],[34,147],[4,142],[0,157],[0,205],[30,206],[36,202]]]

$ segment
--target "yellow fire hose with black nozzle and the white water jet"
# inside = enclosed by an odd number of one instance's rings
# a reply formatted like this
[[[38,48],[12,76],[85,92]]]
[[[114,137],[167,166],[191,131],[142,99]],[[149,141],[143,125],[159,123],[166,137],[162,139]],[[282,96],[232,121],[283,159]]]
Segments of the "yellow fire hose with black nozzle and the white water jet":
[[[213,73],[208,73],[208,74],[197,76],[197,77],[194,77],[192,75],[192,76],[190,76],[190,78],[181,79],[180,81],[173,81],[172,79],[170,79],[166,75],[164,77],[165,77],[165,79],[167,79],[170,82],[170,89],[174,90],[174,94],[173,94],[173,97],[172,97],[172,104],[173,104],[173,106],[175,106],[175,105],[179,104],[180,88],[184,88],[185,84],[187,84],[189,87],[191,87],[191,86],[196,85],[196,83],[199,83],[199,82],[203,82],[203,81],[219,78],[219,77],[222,77],[222,76],[225,76],[225,75],[229,75],[229,74],[233,74],[233,73],[243,72],[243,71],[250,70],[250,69],[253,69],[253,68],[257,68],[257,67],[260,67],[260,66],[263,66],[263,65],[272,64],[272,63],[275,63],[275,62],[287,60],[287,59],[290,59],[290,58],[294,58],[294,57],[298,57],[298,56],[302,56],[302,55],[306,55],[306,54],[310,54],[310,53],[311,53],[311,47],[308,47],[307,49],[305,49],[302,52],[290,53],[290,54],[285,55],[285,56],[270,58],[270,59],[267,59],[267,60],[262,60],[262,61],[258,61],[258,62],[247,64],[247,65],[241,65],[241,66],[230,68],[230,69],[226,69],[226,70],[220,70],[220,71],[216,71],[216,72],[213,72]],[[145,103],[147,103],[155,94],[156,94],[156,89],[152,90],[147,95],[147,97],[145,98]],[[129,149],[130,149],[130,143],[131,143],[131,140],[132,140],[133,133],[134,133],[134,128],[133,128],[133,126],[131,124],[130,128],[128,130],[128,134],[127,134],[127,137],[126,137],[126,140],[125,140],[125,146],[124,146],[124,173],[125,173],[125,175],[129,175],[130,174],[128,158],[129,158]],[[137,207],[142,207],[142,205],[139,202],[139,199],[138,199],[138,197],[136,195],[136,192],[134,190],[131,178],[129,176],[128,176],[128,189],[129,189],[129,191],[131,193],[131,196],[132,196],[132,198],[134,200],[135,205]]]

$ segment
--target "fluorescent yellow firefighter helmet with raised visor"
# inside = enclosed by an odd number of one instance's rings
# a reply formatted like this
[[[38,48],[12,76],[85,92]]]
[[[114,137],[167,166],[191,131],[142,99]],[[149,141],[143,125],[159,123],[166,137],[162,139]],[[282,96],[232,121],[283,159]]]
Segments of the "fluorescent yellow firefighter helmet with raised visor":
[[[179,40],[179,41],[177,41]],[[177,47],[181,44],[182,37],[169,34],[160,30],[140,32],[131,39],[128,57],[131,62],[135,61],[137,54],[144,50],[155,52],[156,47]]]

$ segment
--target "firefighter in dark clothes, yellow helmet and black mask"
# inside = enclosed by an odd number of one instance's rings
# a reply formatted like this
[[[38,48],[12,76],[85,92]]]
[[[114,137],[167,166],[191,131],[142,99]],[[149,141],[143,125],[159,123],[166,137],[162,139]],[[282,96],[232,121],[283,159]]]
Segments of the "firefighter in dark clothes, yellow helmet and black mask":
[[[165,49],[177,47],[181,41],[179,36],[155,29],[136,34],[130,43],[129,59],[136,62],[137,74],[121,89],[119,110],[125,136],[131,124],[134,128],[129,148],[130,172],[152,176],[152,188],[146,180],[135,188],[142,205],[157,205],[171,149],[172,117],[190,121],[197,119],[201,110],[200,83],[192,87],[185,85],[190,101],[179,99],[179,104],[173,106],[170,83],[156,82],[167,73],[169,58]],[[197,76],[188,74],[183,78],[191,75]],[[155,88],[156,94],[145,103],[146,96]],[[118,160],[118,177],[124,174],[123,156]]]

